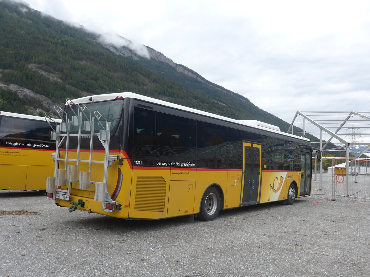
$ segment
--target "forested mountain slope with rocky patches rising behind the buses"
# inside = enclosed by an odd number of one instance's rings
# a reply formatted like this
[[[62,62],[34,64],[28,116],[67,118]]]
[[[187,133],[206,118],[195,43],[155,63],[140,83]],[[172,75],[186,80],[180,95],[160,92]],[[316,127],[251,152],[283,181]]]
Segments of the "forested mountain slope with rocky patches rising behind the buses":
[[[65,99],[131,91],[286,131],[289,123],[151,47],[117,47],[104,36],[10,0],[0,1],[0,110],[55,116]],[[298,128],[295,128],[297,130]],[[309,138],[317,141],[317,138]]]

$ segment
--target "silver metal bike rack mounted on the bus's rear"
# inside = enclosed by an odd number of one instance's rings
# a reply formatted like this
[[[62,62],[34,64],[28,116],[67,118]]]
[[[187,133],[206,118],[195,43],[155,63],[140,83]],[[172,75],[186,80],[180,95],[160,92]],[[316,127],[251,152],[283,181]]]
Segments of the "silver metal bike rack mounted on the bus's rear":
[[[113,206],[118,207],[118,202],[115,202],[111,199],[109,193],[107,192],[107,182],[108,182],[108,167],[111,166],[113,161],[119,160],[120,156],[109,155],[109,145],[110,145],[110,131],[111,123],[102,116],[98,111],[91,111],[83,104],[79,103],[76,105],[78,107],[79,113],[78,116],[75,111],[72,109],[72,106],[75,103],[71,99],[67,99],[67,106],[69,106],[74,114],[71,119],[67,118],[67,113],[58,106],[54,106],[55,111],[58,116],[62,119],[60,124],[57,124],[56,130],[53,128],[53,133],[51,139],[56,141],[55,154],[52,154],[52,157],[55,161],[54,177],[47,177],[46,192],[48,195],[52,195],[50,199],[55,200],[56,194],[66,195],[66,198],[69,199],[71,194],[72,182],[78,182],[79,189],[90,189],[91,184],[95,185],[95,194],[94,200],[102,202],[102,210],[107,212],[113,212],[113,209],[107,209],[106,204],[113,204]],[[87,112],[90,112],[88,116]],[[87,120],[83,120],[84,117]],[[47,117],[45,117],[47,119]],[[65,120],[65,119],[67,120]],[[94,124],[95,119],[97,120],[98,126],[101,126],[102,129],[99,130],[99,133],[94,133]],[[50,117],[48,117],[47,122],[50,124]],[[102,121],[105,120],[105,126]],[[78,133],[71,134],[70,127],[78,126]],[[80,159],[80,150],[81,150],[81,136],[82,130],[90,131],[90,155],[89,160]],[[86,134],[84,134],[86,135]],[[69,151],[69,141],[70,137],[77,136],[77,157],[76,159],[68,158]],[[97,136],[100,140],[102,146],[104,147],[104,161],[101,160],[92,160],[92,145],[93,138]],[[65,158],[60,158],[60,147],[65,141]],[[64,161],[64,169],[58,168],[58,161]],[[68,162],[75,162],[75,164],[68,164]],[[88,171],[79,171],[80,163],[88,163]],[[103,182],[91,181],[91,165],[92,163],[103,163],[104,164],[104,175]],[[79,177],[79,178],[78,178]],[[62,186],[67,186],[67,189],[62,189]]]

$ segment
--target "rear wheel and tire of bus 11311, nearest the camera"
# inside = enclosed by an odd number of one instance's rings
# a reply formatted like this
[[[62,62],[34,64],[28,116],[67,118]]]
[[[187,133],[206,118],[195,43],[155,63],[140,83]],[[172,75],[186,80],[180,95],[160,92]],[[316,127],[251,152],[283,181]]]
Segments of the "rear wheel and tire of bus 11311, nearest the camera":
[[[216,188],[209,187],[202,198],[201,209],[198,214],[198,219],[211,221],[216,219],[221,209],[221,197]]]

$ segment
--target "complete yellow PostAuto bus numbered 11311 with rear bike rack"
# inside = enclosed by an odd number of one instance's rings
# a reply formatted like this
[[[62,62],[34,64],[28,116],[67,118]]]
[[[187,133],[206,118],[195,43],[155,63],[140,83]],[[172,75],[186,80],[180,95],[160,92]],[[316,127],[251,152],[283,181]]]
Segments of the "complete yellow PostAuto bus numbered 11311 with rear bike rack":
[[[190,215],[311,193],[310,141],[131,92],[67,99],[58,108],[58,206],[123,219]]]

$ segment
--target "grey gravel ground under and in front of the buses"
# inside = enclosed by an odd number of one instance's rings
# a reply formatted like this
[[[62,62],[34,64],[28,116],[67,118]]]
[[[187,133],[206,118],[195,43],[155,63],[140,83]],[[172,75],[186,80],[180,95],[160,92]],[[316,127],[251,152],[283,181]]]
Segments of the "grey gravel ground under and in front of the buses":
[[[370,276],[369,223],[370,201],[344,197],[188,222],[69,213],[0,191],[0,276]]]

